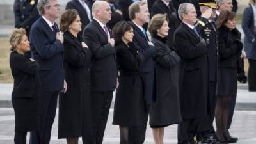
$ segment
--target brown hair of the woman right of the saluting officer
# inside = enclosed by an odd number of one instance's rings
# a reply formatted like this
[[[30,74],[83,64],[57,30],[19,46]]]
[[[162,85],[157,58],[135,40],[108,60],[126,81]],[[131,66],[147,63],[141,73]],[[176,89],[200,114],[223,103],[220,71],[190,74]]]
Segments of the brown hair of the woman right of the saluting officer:
[[[236,18],[236,13],[231,12],[229,10],[223,10],[220,12],[220,15],[218,17],[218,20],[216,20],[216,26],[217,28],[220,28],[221,26],[224,26],[228,22],[228,20],[232,20]]]

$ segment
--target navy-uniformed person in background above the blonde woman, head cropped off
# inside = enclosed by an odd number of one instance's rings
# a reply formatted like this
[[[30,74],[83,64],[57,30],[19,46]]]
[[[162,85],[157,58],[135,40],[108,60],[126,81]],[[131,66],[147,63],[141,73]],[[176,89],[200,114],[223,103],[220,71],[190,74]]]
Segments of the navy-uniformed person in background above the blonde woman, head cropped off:
[[[39,18],[37,3],[38,0],[15,0],[13,5],[15,28],[26,29],[28,37],[31,25]]]

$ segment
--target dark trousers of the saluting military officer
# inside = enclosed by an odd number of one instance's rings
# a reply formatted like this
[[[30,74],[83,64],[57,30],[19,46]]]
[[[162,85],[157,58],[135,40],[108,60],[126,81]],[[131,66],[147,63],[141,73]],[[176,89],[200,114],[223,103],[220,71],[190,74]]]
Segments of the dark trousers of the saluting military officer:
[[[214,132],[213,121],[216,108],[216,82],[211,81],[209,84],[209,97],[208,97],[208,108],[209,115],[198,118],[198,127],[196,127],[196,133],[200,134],[203,132]]]

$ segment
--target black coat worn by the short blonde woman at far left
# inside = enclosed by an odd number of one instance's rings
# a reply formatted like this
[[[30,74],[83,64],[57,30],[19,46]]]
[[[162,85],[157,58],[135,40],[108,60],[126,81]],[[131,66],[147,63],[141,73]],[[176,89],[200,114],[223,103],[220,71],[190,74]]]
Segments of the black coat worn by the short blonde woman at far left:
[[[14,79],[12,104],[15,131],[38,131],[40,128],[40,80],[38,63],[13,51],[10,67]]]

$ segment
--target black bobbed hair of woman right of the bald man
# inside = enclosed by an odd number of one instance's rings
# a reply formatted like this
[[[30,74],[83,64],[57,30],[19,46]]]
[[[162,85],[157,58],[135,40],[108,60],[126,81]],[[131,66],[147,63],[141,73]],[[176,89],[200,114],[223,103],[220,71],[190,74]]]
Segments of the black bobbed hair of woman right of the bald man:
[[[117,22],[112,30],[112,34],[116,44],[122,42],[122,36],[124,36],[124,33],[131,29],[132,29],[132,25],[129,24],[129,22],[125,22],[125,21]]]

